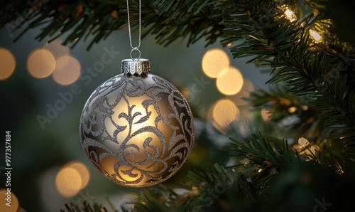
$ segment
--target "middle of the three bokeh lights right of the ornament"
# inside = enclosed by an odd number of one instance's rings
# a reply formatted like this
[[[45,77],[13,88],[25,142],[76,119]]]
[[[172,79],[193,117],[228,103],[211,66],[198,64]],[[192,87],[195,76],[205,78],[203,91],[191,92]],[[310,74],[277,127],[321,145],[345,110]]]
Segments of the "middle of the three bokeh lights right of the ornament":
[[[235,95],[243,87],[243,75],[235,67],[229,67],[219,74],[217,80],[217,89],[224,95]]]

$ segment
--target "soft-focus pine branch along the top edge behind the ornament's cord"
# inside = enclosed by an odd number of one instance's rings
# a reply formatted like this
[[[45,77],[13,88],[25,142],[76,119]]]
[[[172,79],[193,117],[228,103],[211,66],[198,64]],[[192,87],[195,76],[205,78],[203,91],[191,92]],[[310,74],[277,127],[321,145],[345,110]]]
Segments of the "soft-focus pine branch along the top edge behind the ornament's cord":
[[[36,37],[39,41],[53,41],[65,34],[63,45],[90,38],[87,49],[107,38],[112,32],[127,26],[126,1],[35,1],[33,5],[22,1],[0,2],[0,27],[9,33],[21,31],[14,41],[31,28],[44,26]],[[231,1],[143,1],[141,6],[143,36],[152,33],[157,42],[168,45],[178,38],[188,38],[187,45],[205,38],[214,43],[222,35],[220,16]],[[21,21],[18,14],[23,14]],[[131,1],[132,26],[138,25],[138,1]],[[25,25],[28,23],[28,26]]]

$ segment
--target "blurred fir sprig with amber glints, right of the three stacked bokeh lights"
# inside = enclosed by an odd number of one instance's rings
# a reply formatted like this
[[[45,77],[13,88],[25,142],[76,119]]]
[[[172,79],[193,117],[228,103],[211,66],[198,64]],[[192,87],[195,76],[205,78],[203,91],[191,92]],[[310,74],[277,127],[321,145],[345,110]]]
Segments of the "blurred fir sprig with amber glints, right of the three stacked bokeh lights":
[[[277,124],[280,133],[288,139],[297,140],[307,137],[313,142],[324,139],[324,126],[318,118],[317,107],[305,105],[307,98],[295,96],[284,86],[269,87],[268,90],[258,88],[249,95],[249,102],[254,111],[267,113],[268,120]],[[264,117],[265,119],[266,117]]]

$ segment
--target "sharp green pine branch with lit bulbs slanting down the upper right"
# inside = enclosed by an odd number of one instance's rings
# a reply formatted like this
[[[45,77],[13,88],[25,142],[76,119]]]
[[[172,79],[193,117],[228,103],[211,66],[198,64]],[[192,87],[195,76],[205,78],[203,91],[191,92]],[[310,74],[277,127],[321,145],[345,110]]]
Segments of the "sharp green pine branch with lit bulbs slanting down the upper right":
[[[236,12],[224,23],[226,31],[234,36],[224,42],[239,42],[231,47],[234,57],[253,55],[250,62],[262,60],[264,65],[270,65],[273,76],[268,83],[285,83],[290,88],[288,92],[307,98],[304,103],[316,107],[318,117],[324,122],[329,147],[334,143],[342,144],[343,149],[329,152],[353,161],[355,90],[351,83],[354,82],[355,65],[344,63],[343,59],[344,55],[349,55],[348,62],[354,61],[353,48],[328,33],[329,21],[305,13],[312,5],[303,9],[302,13],[307,15],[298,22],[286,18],[283,8],[275,1],[256,3],[241,2],[231,9]],[[312,27],[324,32],[322,43],[315,43],[310,38],[308,30]]]

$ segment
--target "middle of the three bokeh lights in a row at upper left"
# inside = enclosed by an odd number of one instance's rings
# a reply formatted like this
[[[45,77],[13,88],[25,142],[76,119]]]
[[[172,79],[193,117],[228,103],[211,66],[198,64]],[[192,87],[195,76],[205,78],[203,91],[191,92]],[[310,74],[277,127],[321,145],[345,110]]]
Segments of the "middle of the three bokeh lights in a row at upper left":
[[[38,48],[28,56],[27,69],[35,78],[46,78],[55,68],[55,58],[50,51]]]

